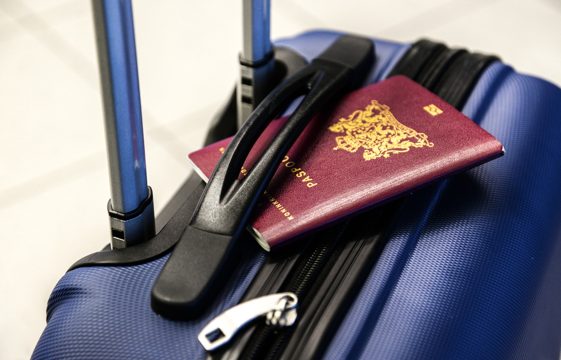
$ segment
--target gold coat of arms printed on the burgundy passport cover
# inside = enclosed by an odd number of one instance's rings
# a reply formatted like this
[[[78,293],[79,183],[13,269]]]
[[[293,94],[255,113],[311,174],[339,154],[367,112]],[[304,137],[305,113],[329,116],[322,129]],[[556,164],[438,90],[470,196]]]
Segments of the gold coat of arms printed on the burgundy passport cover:
[[[372,100],[364,111],[356,110],[347,118],[339,119],[329,130],[346,134],[335,138],[337,146],[334,150],[356,152],[364,147],[362,157],[366,161],[408,152],[411,147],[434,146],[425,134],[399,123],[390,113],[389,106],[381,105],[376,100]]]

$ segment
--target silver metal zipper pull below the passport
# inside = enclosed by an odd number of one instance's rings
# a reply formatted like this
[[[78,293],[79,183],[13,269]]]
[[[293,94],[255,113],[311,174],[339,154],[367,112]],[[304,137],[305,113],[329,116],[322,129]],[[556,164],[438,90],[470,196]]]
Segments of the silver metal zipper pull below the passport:
[[[215,317],[199,333],[206,350],[214,350],[232,339],[244,325],[266,315],[266,324],[275,328],[291,326],[296,321],[298,297],[291,292],[265,295],[242,302]]]

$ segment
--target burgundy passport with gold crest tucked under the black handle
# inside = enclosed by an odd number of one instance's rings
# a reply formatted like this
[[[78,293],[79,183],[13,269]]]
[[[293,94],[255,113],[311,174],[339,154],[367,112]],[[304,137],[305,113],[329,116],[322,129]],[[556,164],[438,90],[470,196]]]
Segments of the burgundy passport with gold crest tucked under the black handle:
[[[288,117],[257,139],[240,177]],[[188,155],[206,181],[232,138]],[[434,93],[396,76],[321,111],[280,163],[248,230],[266,250],[504,155],[502,144]]]

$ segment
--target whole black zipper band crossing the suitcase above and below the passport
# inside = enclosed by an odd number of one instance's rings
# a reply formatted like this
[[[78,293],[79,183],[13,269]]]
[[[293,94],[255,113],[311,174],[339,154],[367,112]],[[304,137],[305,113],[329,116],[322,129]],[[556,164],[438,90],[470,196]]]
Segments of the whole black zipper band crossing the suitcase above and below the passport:
[[[481,73],[497,59],[420,40],[388,77],[408,76],[461,110]],[[209,353],[207,360],[318,358],[374,265],[403,202],[394,200],[268,259],[242,301],[294,292],[299,302],[297,323],[282,330],[254,324],[225,349]]]

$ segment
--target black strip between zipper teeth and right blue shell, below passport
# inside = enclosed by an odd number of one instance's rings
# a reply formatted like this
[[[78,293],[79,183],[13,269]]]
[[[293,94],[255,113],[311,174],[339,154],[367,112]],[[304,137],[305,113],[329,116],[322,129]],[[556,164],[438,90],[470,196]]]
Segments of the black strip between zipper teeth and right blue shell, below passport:
[[[302,300],[298,326],[282,330],[286,333],[278,338],[282,342],[273,343],[266,359],[306,359],[323,352],[325,341],[346,314],[378,258],[401,204],[399,199],[351,219],[309,296]]]

